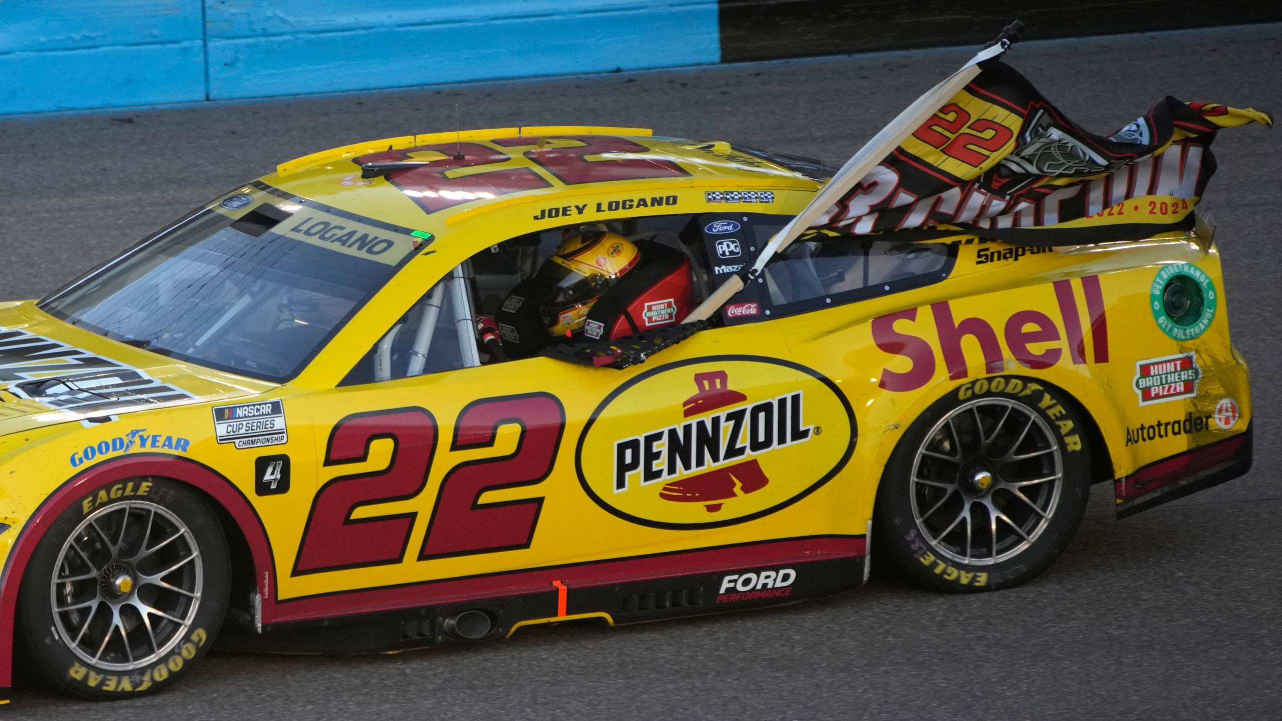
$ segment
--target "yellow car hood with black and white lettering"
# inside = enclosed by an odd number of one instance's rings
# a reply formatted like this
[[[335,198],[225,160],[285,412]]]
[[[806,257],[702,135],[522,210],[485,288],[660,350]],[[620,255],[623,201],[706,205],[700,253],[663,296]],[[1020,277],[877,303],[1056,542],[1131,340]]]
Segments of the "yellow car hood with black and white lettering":
[[[0,435],[273,387],[109,340],[35,301],[0,303]]]

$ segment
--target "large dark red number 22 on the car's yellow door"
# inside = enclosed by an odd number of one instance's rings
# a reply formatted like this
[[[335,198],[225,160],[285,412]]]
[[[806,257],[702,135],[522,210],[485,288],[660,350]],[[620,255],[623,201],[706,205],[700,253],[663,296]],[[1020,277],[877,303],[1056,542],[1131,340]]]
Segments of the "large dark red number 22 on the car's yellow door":
[[[488,448],[499,427],[520,426],[508,455],[465,461],[445,475],[419,558],[527,548],[542,498],[478,503],[487,490],[533,485],[551,473],[565,411],[546,393],[488,398],[468,404],[455,422],[451,450]],[[360,463],[376,439],[391,439],[387,468],[328,481],[317,493],[294,563],[294,575],[400,563],[417,513],[354,520],[364,505],[406,500],[427,485],[436,450],[436,418],[422,408],[356,413],[329,434],[324,466]]]

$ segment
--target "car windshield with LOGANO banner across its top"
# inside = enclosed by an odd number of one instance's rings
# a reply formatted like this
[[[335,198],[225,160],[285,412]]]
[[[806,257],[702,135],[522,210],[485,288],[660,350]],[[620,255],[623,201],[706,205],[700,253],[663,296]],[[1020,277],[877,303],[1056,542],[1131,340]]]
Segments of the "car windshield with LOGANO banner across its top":
[[[255,183],[40,308],[163,355],[283,382],[429,239]]]

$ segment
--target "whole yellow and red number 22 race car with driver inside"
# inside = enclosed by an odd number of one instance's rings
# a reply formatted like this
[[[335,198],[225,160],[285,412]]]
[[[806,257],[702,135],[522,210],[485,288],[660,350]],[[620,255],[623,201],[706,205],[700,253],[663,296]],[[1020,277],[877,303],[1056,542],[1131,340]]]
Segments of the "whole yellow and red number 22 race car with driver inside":
[[[0,686],[981,591],[1251,462],[1211,231],[792,244],[832,171],[524,127],[285,163],[0,305]]]

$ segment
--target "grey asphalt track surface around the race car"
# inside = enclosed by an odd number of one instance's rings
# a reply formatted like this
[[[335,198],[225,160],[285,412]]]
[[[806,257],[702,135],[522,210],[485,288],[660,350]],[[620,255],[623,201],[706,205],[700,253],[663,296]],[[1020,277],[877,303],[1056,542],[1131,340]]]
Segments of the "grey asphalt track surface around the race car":
[[[655,51],[662,51],[656,49]],[[276,163],[454,127],[603,124],[844,160],[973,50],[0,121],[0,296],[35,298]],[[1164,95],[1282,112],[1282,26],[1026,42],[1009,55],[1096,131]],[[1095,486],[1033,582],[941,595],[876,572],[841,597],[356,658],[209,656],[173,690],[13,718],[1279,718],[1279,131],[1224,131],[1203,204],[1255,385],[1255,470],[1126,521]],[[876,541],[874,541],[876,548]],[[876,567],[876,563],[874,563]]]

